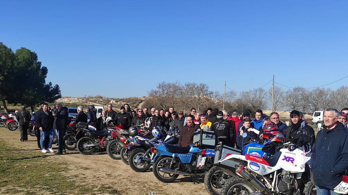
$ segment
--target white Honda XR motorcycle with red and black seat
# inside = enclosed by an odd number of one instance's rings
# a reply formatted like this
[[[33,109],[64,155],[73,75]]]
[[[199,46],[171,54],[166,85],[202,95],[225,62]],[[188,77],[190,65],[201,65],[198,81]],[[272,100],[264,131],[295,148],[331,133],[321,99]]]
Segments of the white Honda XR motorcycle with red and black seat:
[[[245,162],[247,167],[236,168],[235,172],[241,178],[226,183],[222,188],[223,195],[300,195],[296,179],[301,178],[310,157],[299,149],[282,148],[269,159],[230,154],[217,163],[229,160]]]

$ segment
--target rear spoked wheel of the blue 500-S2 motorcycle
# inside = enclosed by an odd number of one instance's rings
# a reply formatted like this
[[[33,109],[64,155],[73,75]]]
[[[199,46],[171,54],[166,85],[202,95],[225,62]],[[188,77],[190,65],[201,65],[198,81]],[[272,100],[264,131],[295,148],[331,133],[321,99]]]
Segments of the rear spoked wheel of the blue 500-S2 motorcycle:
[[[179,176],[178,174],[164,173],[159,171],[160,168],[175,169],[176,167],[173,167],[173,164],[175,164],[177,161],[174,159],[172,167],[170,167],[172,159],[172,157],[159,157],[155,164],[153,164],[153,175],[164,183],[174,181]]]

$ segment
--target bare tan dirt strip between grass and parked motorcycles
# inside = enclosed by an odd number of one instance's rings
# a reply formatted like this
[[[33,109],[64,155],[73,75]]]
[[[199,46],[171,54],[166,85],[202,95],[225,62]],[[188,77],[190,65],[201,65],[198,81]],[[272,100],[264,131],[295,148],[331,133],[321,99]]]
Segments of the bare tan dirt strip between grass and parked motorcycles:
[[[13,132],[6,128],[0,128],[0,138],[8,142],[9,145],[20,149],[37,149],[36,137],[28,135],[29,141],[20,142],[18,130]],[[53,146],[53,149],[55,150],[56,147]],[[38,155],[42,155],[40,150],[36,151]],[[52,161],[68,164],[67,166],[71,170],[64,173],[64,175],[76,175],[78,172],[81,181],[96,186],[107,184],[120,190],[122,194],[148,195],[149,192],[156,192],[157,195],[208,194],[203,183],[204,176],[197,177],[199,184],[193,184],[190,177],[183,176],[179,176],[173,183],[165,184],[155,178],[152,168],[148,172],[138,173],[121,160],[111,159],[106,153],[95,153],[86,156],[79,154],[77,150],[73,150],[67,151],[65,155],[53,155],[52,153],[46,153],[45,155],[48,156],[47,159]],[[74,180],[79,181],[79,178]]]

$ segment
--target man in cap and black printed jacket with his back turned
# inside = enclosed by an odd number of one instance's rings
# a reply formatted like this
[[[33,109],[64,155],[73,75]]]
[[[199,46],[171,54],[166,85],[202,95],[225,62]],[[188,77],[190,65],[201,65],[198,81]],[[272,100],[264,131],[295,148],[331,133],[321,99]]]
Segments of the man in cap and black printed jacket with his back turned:
[[[234,144],[233,137],[235,130],[231,126],[229,121],[223,119],[223,111],[217,112],[217,119],[212,125],[211,130],[214,131],[216,137],[216,144],[222,142],[223,145],[231,146]]]

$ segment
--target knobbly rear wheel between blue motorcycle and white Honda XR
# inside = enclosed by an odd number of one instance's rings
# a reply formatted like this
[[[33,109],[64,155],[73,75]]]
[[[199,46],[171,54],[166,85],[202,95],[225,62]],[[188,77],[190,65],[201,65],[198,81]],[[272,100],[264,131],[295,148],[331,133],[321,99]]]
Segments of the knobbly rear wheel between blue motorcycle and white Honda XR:
[[[204,177],[205,189],[211,195],[219,195],[221,193],[223,180],[229,179],[231,176],[226,174],[219,167],[214,166],[211,168]]]

